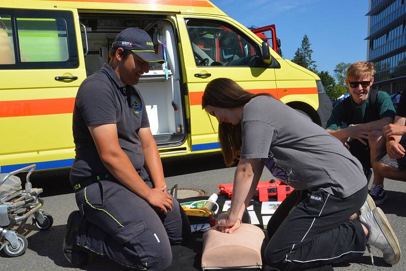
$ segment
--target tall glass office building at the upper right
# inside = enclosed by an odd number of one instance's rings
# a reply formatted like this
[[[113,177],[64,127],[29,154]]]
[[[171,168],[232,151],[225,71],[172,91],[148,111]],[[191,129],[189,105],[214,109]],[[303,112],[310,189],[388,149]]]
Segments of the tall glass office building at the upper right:
[[[367,60],[375,63],[374,86],[388,93],[406,90],[405,0],[368,0]]]

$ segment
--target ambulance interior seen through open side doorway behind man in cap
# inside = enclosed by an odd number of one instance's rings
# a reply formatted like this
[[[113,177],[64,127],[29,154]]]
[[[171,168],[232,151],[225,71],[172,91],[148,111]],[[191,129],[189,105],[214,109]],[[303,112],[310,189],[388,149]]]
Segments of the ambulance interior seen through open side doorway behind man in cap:
[[[79,13],[87,76],[109,63],[109,50],[117,34],[127,27],[144,29],[152,38],[155,53],[166,60],[150,65],[136,87],[148,112],[150,128],[158,147],[181,145],[186,139],[184,108],[180,88],[178,48],[172,24],[167,19],[134,15]],[[85,33],[86,29],[86,33]],[[87,40],[87,45],[86,45]],[[87,49],[87,50],[86,50]]]

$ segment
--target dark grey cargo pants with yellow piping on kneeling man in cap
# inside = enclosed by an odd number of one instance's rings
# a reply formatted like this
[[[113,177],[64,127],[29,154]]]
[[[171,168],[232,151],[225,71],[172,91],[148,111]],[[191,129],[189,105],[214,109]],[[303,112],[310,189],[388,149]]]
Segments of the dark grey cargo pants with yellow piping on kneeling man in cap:
[[[190,234],[188,219],[174,198],[172,211],[156,213],[124,186],[103,180],[78,191],[76,202],[84,215],[76,243],[127,267],[164,270],[172,262],[170,244]]]

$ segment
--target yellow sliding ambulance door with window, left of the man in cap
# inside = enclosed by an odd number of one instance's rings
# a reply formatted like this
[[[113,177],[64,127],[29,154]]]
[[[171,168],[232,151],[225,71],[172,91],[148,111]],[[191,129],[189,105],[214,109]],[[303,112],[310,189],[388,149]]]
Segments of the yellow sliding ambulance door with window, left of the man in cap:
[[[72,113],[86,78],[81,47],[74,9],[0,9],[2,173],[32,162],[71,166]]]

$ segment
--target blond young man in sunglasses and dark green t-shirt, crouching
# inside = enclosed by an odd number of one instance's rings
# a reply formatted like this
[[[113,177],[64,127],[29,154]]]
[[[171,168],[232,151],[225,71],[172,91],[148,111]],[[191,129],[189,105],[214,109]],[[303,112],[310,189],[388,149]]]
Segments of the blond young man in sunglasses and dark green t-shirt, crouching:
[[[374,73],[371,62],[358,61],[349,67],[346,83],[351,95],[334,107],[326,128],[358,158],[366,175],[375,158],[385,150],[382,128],[392,123],[395,117],[389,94],[370,90]],[[343,124],[348,127],[342,128]],[[374,168],[374,182],[369,195],[376,205],[383,204],[387,198],[383,182],[384,177]]]

